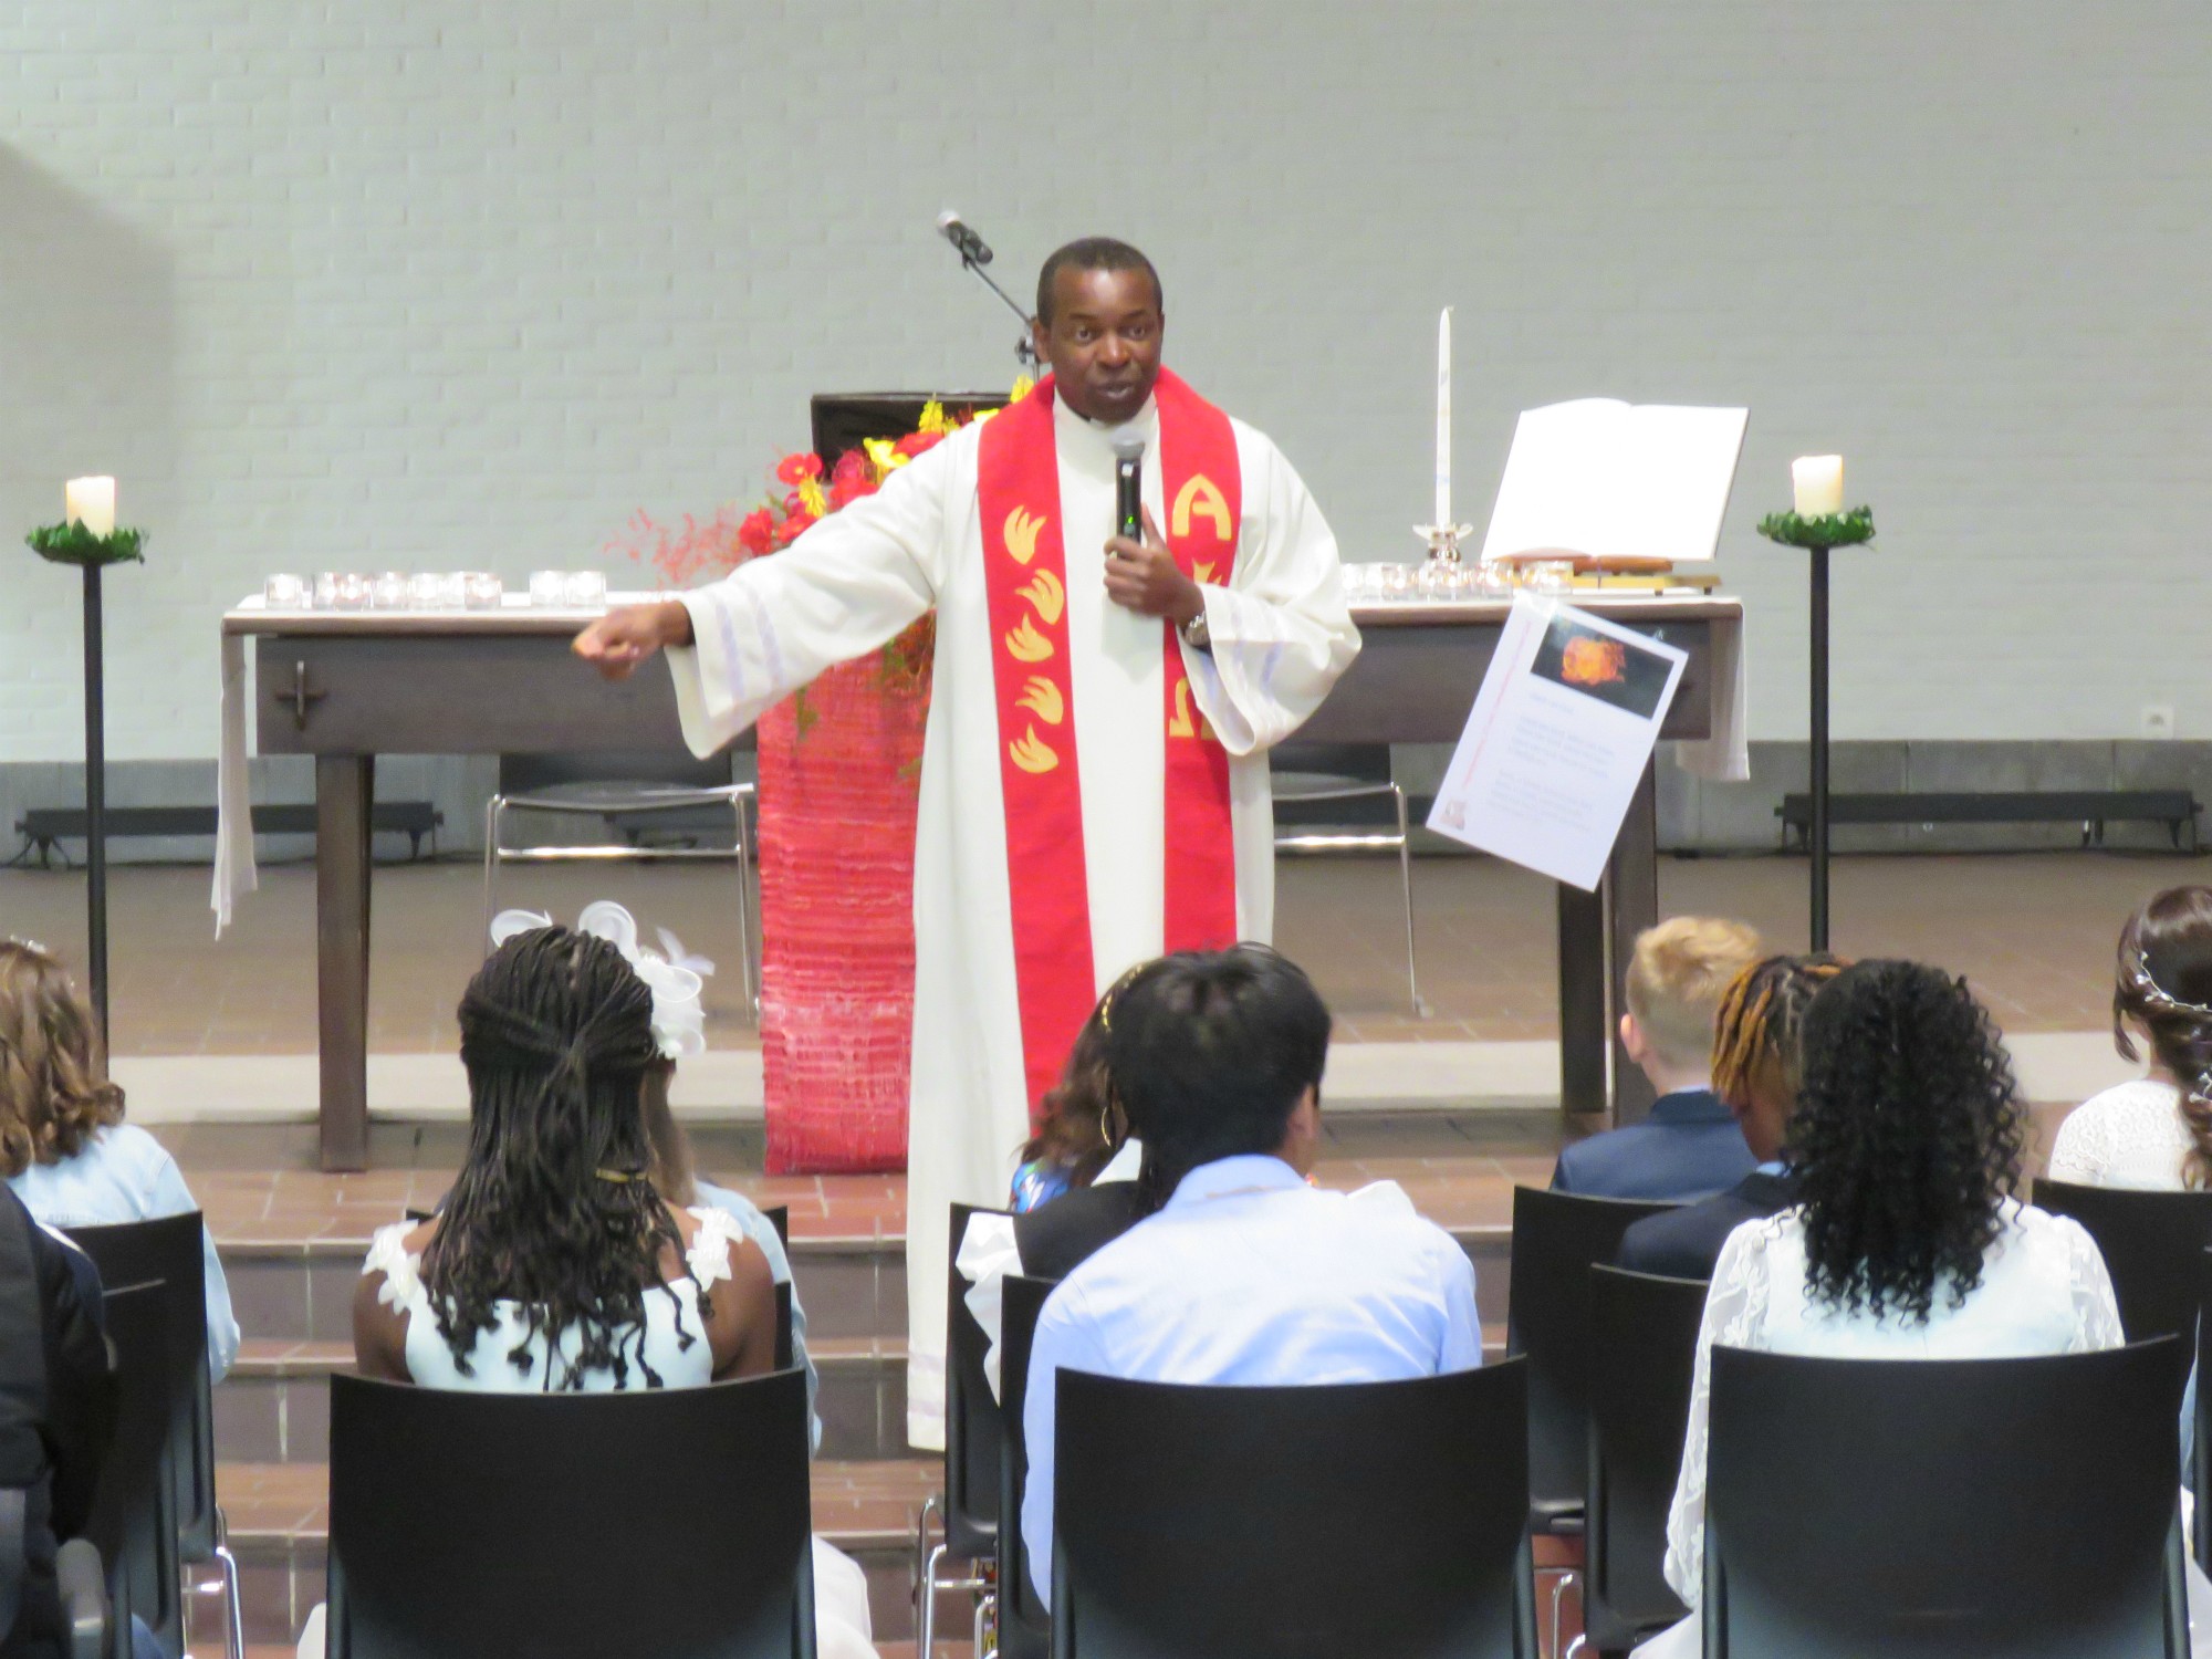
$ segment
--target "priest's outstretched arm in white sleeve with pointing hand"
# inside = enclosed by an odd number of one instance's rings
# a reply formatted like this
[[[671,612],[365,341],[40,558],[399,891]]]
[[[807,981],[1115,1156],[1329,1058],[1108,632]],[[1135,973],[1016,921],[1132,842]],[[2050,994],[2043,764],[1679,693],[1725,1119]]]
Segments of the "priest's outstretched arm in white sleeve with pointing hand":
[[[860,657],[936,604],[945,560],[942,456],[816,522],[790,549],[659,604],[608,613],[575,653],[611,679],[668,653],[684,741],[712,754],[825,668]]]

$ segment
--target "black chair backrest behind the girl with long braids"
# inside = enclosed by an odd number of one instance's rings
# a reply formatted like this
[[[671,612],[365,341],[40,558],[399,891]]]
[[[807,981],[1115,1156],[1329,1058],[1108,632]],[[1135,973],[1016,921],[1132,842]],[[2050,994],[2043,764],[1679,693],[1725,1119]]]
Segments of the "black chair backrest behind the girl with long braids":
[[[330,1380],[330,1659],[814,1652],[799,1371],[626,1394]]]

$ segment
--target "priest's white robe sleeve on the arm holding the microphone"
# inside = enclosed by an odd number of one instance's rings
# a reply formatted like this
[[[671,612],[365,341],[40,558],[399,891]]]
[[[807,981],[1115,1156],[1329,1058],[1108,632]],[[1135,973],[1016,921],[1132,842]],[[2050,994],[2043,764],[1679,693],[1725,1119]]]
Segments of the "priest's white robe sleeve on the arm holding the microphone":
[[[1321,708],[1360,653],[1336,535],[1272,445],[1243,491],[1228,586],[1201,584],[1208,646],[1183,644],[1190,688],[1230,754],[1272,748]]]

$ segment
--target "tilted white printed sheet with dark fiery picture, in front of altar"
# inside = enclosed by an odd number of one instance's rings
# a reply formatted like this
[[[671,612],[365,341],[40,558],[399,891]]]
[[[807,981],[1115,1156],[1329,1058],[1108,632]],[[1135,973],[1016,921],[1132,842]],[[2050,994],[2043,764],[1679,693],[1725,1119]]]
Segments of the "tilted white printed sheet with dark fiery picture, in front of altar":
[[[1688,653],[1513,595],[1429,827],[1595,891]]]

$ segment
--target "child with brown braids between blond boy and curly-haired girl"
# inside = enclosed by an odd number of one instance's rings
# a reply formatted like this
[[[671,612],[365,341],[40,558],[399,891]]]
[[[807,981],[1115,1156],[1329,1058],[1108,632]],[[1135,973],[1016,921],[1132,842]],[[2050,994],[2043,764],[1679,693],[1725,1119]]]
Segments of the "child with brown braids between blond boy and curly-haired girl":
[[[1814,991],[1847,964],[1834,956],[1770,956],[1721,995],[1712,1037],[1712,1093],[1734,1115],[1759,1168],[1725,1192],[1644,1217],[1615,1261],[1639,1274],[1712,1279],[1728,1234],[1798,1201],[1787,1159],[1798,1088],[1798,1024]]]

